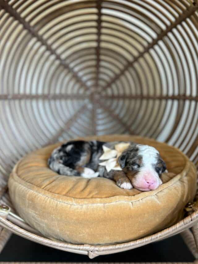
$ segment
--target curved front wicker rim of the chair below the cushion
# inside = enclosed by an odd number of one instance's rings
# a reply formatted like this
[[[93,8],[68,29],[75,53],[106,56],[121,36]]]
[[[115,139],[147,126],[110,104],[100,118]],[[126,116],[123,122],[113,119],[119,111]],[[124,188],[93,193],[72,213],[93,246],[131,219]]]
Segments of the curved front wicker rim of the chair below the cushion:
[[[24,238],[27,238],[39,244],[53,247],[56,249],[60,249],[63,251],[69,251],[73,253],[80,253],[80,254],[86,254],[86,255],[89,255],[89,252],[91,253],[94,252],[96,253],[96,256],[103,255],[103,254],[117,253],[117,252],[129,250],[129,249],[137,248],[137,247],[140,247],[140,246],[152,243],[152,242],[156,242],[159,240],[163,240],[170,236],[176,235],[184,231],[187,228],[192,227],[196,223],[198,223],[198,210],[196,210],[194,213],[190,214],[189,216],[185,217],[184,219],[180,220],[178,223],[172,225],[171,227],[168,227],[153,235],[140,238],[138,240],[133,240],[133,241],[124,242],[124,243],[117,243],[117,244],[112,244],[112,245],[88,245],[88,244],[77,245],[77,244],[71,244],[67,242],[61,242],[58,240],[51,240],[41,235],[34,234],[33,232],[29,232],[25,230],[24,228],[19,227],[15,223],[12,223],[11,221],[0,216],[0,225],[19,236],[22,236]]]

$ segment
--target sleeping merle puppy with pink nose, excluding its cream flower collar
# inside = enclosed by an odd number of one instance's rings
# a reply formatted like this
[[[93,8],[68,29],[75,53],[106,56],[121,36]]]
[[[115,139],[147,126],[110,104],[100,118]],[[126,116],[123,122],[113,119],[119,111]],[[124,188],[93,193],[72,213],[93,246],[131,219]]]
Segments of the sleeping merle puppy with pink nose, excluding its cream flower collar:
[[[114,180],[124,189],[157,189],[162,184],[160,176],[166,170],[166,164],[157,149],[151,146],[127,142],[127,149],[118,158],[122,170],[107,171],[104,166],[99,165],[104,146],[114,149],[118,143],[120,142],[69,141],[54,149],[48,159],[48,165],[61,175],[86,178],[85,168],[90,168],[96,172],[93,177],[99,175]]]

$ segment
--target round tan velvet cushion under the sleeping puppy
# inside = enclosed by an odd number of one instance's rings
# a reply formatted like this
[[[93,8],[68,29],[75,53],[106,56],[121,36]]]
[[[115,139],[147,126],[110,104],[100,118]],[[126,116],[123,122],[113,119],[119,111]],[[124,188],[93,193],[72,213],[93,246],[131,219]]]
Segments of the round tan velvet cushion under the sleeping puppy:
[[[178,149],[136,136],[95,136],[86,140],[135,141],[159,150],[168,174],[156,190],[119,188],[105,178],[58,175],[47,167],[52,150],[34,151],[15,166],[8,182],[19,215],[44,236],[75,244],[112,244],[160,231],[183,217],[196,191],[196,169]],[[82,139],[82,138],[81,138]]]

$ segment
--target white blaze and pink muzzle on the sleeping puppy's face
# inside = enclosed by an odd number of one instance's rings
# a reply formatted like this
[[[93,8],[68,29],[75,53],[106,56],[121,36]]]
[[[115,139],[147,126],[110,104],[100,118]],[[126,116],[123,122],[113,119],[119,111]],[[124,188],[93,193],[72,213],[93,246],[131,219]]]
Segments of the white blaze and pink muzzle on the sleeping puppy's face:
[[[137,146],[139,148],[138,155],[142,156],[142,166],[132,180],[132,184],[140,191],[155,190],[162,184],[159,175],[155,171],[159,152],[148,145]]]

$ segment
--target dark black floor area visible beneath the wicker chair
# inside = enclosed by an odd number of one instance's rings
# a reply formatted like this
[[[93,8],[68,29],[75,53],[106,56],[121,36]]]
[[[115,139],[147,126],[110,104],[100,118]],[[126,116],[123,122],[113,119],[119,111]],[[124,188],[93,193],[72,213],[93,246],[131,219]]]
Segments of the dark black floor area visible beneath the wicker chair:
[[[191,262],[194,257],[180,235],[121,253],[89,259],[79,255],[39,245],[12,235],[0,254],[0,261],[24,262]]]

